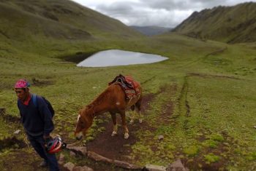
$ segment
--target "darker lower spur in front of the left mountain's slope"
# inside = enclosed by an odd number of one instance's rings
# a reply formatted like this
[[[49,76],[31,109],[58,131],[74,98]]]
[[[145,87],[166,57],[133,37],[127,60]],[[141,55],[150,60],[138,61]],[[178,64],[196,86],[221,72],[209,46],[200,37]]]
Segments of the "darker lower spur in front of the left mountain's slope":
[[[54,39],[86,39],[91,37],[87,31],[71,25],[56,23],[39,15],[31,15],[0,3],[0,34],[7,39],[22,40],[32,36],[45,36]],[[8,16],[8,17],[7,17]]]

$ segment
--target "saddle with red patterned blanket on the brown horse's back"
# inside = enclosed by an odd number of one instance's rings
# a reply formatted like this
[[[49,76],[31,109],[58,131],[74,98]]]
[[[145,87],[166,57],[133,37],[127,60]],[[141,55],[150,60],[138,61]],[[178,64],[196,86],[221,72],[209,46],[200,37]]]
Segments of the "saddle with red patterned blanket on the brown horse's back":
[[[119,74],[119,76],[116,76],[116,78],[109,82],[108,85],[114,83],[120,85],[120,87],[124,90],[127,99],[135,98],[136,96],[140,95],[140,90],[138,88],[140,84],[132,79],[132,76],[123,76]]]

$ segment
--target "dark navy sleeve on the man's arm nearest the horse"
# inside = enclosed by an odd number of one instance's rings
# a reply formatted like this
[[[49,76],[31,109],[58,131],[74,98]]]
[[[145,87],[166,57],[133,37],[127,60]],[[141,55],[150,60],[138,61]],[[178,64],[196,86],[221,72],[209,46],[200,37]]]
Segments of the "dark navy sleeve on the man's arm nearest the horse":
[[[53,119],[50,114],[50,111],[48,109],[47,104],[45,103],[45,100],[43,100],[41,97],[37,96],[37,104],[39,108],[39,114],[41,115],[41,118],[44,122],[44,135],[50,135],[50,132],[53,131]]]

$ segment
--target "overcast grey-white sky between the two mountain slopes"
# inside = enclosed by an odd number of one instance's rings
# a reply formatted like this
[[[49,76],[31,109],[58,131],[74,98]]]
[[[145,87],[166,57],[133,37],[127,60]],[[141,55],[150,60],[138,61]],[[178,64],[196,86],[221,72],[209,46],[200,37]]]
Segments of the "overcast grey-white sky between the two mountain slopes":
[[[233,6],[248,0],[72,0],[126,25],[157,25],[173,28],[192,12]],[[251,0],[256,1],[256,0]]]

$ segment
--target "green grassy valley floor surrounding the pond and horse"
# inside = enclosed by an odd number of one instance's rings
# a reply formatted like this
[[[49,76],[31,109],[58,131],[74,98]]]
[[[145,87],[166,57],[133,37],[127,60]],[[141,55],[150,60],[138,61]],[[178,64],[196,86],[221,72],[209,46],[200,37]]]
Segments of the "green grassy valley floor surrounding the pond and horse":
[[[26,78],[32,83],[31,92],[48,98],[55,108],[54,132],[75,142],[78,110],[94,100],[119,73],[129,74],[140,81],[145,95],[154,95],[143,114],[143,121],[153,131],[135,133],[138,141],[132,146],[132,156],[136,164],[167,165],[181,158],[201,159],[202,165],[230,161],[222,166],[226,169],[236,166],[238,170],[250,170],[256,166],[256,50],[249,45],[204,42],[176,34],[129,41],[70,43],[41,39],[0,44],[0,107],[9,115],[19,116],[12,86],[17,79]],[[225,51],[210,55],[225,47]],[[147,52],[169,60],[106,68],[78,68],[61,60],[76,52],[102,49]],[[10,130],[8,124],[0,122],[3,136],[18,129],[17,124],[10,124]],[[94,122],[88,140],[104,131],[97,126],[100,122]],[[164,135],[164,139],[159,141],[158,135]],[[4,154],[4,158],[11,155]],[[80,159],[69,160],[80,163]]]

